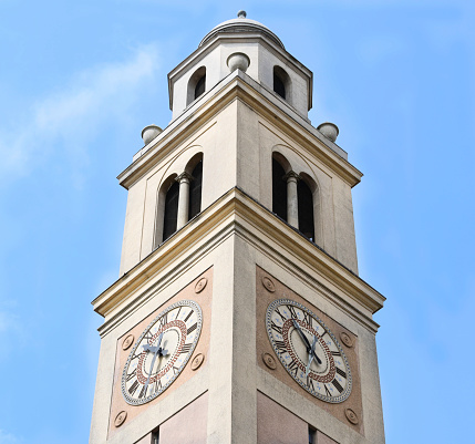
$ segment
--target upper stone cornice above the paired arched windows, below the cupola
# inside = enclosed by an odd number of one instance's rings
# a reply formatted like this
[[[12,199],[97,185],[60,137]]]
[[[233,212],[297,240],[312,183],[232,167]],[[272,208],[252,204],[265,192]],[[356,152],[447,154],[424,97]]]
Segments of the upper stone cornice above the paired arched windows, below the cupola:
[[[196,133],[204,124],[209,123],[235,100],[246,103],[298,144],[311,151],[317,158],[341,176],[350,186],[354,186],[361,180],[362,173],[337,154],[337,148],[341,148],[323,137],[275,93],[237,70],[173,121],[157,140],[151,142],[149,146],[144,147],[133,164],[118,175],[120,184],[128,189],[164,156]]]

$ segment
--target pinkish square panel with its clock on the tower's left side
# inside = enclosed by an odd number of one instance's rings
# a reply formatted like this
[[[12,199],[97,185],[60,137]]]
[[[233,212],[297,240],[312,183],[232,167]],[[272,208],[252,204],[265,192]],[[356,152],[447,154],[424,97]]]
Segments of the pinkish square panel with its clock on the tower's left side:
[[[118,338],[109,427],[110,435],[116,433],[116,417],[121,412],[121,417],[126,417],[123,421],[123,425],[122,423],[121,425],[125,426],[125,424],[132,422],[149,405],[168,396],[206,365],[210,333],[211,290],[213,269],[208,269]],[[166,290],[161,291],[157,296],[159,297],[164,292],[166,292]],[[185,318],[190,314],[186,320],[186,331],[180,328],[183,327],[182,322],[178,322],[179,326],[175,326],[173,323],[174,320],[171,319],[171,317],[176,317],[178,310],[180,311],[178,313],[178,321],[180,320],[184,322]],[[185,313],[184,317],[182,317],[182,311]],[[165,319],[164,317],[167,318],[167,322],[165,323],[162,322]],[[192,320],[193,322],[188,326]],[[196,328],[194,327],[195,322]],[[159,327],[162,323],[163,327]],[[187,334],[187,331],[189,331],[189,334]],[[162,337],[162,343],[158,345],[157,340],[162,332],[164,334]],[[152,335],[156,335],[154,339],[155,342],[144,340],[148,338],[151,333]],[[135,342],[128,345],[131,335],[135,338]],[[185,341],[182,341],[182,339]],[[124,342],[128,345],[125,350]],[[189,343],[189,345],[187,345],[187,343]],[[146,348],[146,344],[148,344],[152,352],[143,353],[144,344]],[[144,370],[143,373],[147,375],[146,369],[149,368],[154,358],[153,351],[155,349],[153,348],[161,345],[164,352],[156,353],[157,358],[154,363],[155,371],[152,372],[148,384],[146,384],[147,378],[145,378],[145,380],[143,378],[144,375],[142,375],[142,378],[135,378],[134,375],[138,372],[134,372],[134,370],[140,369],[142,365]],[[134,359],[134,357],[141,354],[143,358],[142,361],[141,358]],[[166,355],[161,357],[159,354]],[[158,360],[163,360],[163,362],[158,362]],[[197,363],[199,364],[197,365]],[[134,369],[132,366],[134,366]],[[173,369],[174,366],[175,369]],[[161,373],[163,373],[163,375]],[[132,376],[128,376],[131,374]],[[163,379],[162,386],[159,386],[159,380],[155,378],[157,375],[161,375],[161,379]],[[165,380],[167,376],[168,379]],[[137,388],[134,389],[136,390],[131,389],[135,382]],[[145,385],[147,385],[146,396],[140,396],[141,390],[143,391]],[[132,394],[130,390],[133,391]]]

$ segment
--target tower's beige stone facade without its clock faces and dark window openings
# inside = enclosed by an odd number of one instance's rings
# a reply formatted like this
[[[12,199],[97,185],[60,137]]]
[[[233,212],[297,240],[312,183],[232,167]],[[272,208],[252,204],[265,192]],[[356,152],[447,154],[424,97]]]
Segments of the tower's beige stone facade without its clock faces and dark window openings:
[[[309,427],[319,444],[384,442],[372,319],[384,298],[358,277],[352,214],[362,174],[309,123],[312,74],[276,39],[242,17],[211,30],[168,75],[173,121],[118,176],[128,199],[120,278],[93,301],[104,323],[90,443],[148,444],[158,432],[161,444],[303,444]],[[249,59],[246,72],[229,72],[236,52]],[[289,76],[286,100],[272,89],[276,65]],[[202,66],[205,93],[189,102]],[[163,241],[166,192],[196,158],[200,213]],[[272,158],[312,184],[312,241],[272,214]],[[261,354],[273,351],[262,273],[358,344],[348,351],[355,382],[343,403],[313,399],[283,368],[264,365]],[[208,283],[196,291],[203,277]],[[154,401],[127,405],[117,389],[123,341],[180,298],[204,313],[190,362]]]

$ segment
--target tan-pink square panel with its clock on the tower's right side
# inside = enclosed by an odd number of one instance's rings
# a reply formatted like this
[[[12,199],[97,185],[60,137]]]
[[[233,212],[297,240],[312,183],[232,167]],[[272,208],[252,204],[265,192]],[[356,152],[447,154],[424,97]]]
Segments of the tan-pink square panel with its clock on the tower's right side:
[[[297,391],[300,395],[327,410],[344,424],[364,434],[362,421],[354,422],[348,417],[348,411],[353,412],[354,416],[359,419],[363,415],[358,364],[358,338],[259,267],[256,270],[256,298],[258,365]],[[279,316],[276,318],[275,310],[276,308],[279,310],[279,307],[282,316],[286,317],[282,312],[282,306],[283,310],[289,314],[287,321],[282,320]],[[292,314],[290,313],[292,308],[296,309],[295,316],[301,331],[304,331],[310,339],[312,338],[310,329],[304,329],[303,313],[307,317],[312,317],[312,333],[318,338],[314,350],[322,363],[311,362],[309,375],[312,378],[312,381],[309,384],[307,384],[308,379],[306,375],[306,365],[308,364],[308,359],[306,361],[306,358],[308,358],[308,354],[306,344],[303,342],[299,343],[301,337],[293,327]],[[299,320],[300,317],[302,320]],[[287,327],[289,328],[286,331],[282,331],[283,329],[280,330],[279,326],[277,326],[280,333],[285,333],[287,341],[283,341],[283,338],[279,337],[279,332],[272,329],[273,318],[276,320],[280,318],[282,324],[288,324]],[[345,341],[343,342],[341,338],[344,338]],[[295,345],[292,347],[291,343]],[[283,349],[280,349],[282,353],[279,352],[279,347],[286,347],[286,353],[283,353]],[[269,366],[262,359],[262,355],[269,354],[273,357],[277,363],[275,369],[271,365]],[[293,369],[296,365],[291,362],[292,355],[296,358],[297,370]],[[300,359],[299,355],[301,355]],[[339,360],[338,364],[334,363],[334,358]],[[290,368],[289,365],[293,366]],[[340,369],[339,373],[337,369]],[[302,378],[300,378],[301,373]],[[333,385],[332,381],[335,380],[335,376],[340,376],[341,381],[337,379],[335,385]],[[318,382],[320,382],[320,390],[318,390]],[[324,386],[327,386],[327,390]],[[352,415],[351,417],[354,416]]]

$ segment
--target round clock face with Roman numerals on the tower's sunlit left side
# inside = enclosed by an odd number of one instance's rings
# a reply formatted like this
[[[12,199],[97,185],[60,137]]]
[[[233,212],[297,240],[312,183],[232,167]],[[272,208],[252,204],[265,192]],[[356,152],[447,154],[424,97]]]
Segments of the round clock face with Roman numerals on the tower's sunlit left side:
[[[202,331],[202,310],[190,300],[169,306],[135,342],[122,372],[128,404],[152,401],[164,392],[188,362]]]

